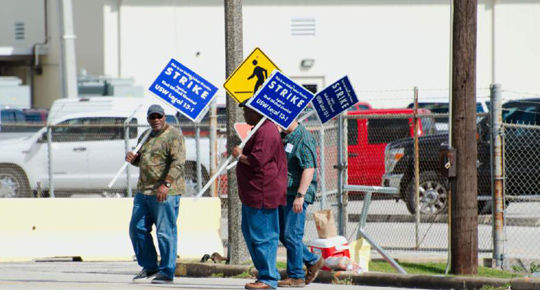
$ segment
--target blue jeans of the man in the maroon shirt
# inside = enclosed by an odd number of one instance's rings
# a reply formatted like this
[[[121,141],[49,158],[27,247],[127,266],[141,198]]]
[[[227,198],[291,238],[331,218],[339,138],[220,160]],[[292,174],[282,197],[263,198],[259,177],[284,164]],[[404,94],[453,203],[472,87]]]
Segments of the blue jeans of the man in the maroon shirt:
[[[279,218],[276,209],[258,209],[242,205],[242,233],[251,260],[259,271],[257,280],[277,288],[281,279],[276,267]]]

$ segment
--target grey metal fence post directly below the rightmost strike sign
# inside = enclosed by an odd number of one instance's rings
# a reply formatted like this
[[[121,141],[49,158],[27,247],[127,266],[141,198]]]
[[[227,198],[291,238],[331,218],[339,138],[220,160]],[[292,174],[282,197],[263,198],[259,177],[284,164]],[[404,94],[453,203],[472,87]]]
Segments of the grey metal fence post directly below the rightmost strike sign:
[[[339,234],[341,236],[347,235],[347,199],[344,196],[344,190],[343,190],[343,174],[344,170],[347,168],[345,166],[343,155],[345,154],[343,143],[345,141],[345,127],[344,127],[344,120],[343,114],[340,114],[338,117],[338,164],[337,164],[337,195],[338,195],[338,228],[339,228]]]

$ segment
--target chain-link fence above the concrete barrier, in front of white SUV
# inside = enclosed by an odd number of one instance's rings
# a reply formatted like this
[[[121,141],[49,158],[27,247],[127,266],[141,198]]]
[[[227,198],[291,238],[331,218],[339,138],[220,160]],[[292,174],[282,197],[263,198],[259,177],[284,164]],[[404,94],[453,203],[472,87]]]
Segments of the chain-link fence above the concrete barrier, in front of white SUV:
[[[125,117],[74,117],[59,124],[2,124],[0,152],[1,197],[126,197],[136,191],[138,168],[127,166],[111,187],[148,125]],[[171,125],[180,128],[171,120]],[[189,131],[189,128],[188,128]],[[198,191],[197,162],[202,182],[209,178],[208,149],[197,158],[195,137],[185,136],[185,196]],[[224,138],[218,138],[225,150]],[[200,138],[208,148],[208,137]],[[49,174],[52,172],[52,174]],[[206,195],[209,195],[207,192]]]

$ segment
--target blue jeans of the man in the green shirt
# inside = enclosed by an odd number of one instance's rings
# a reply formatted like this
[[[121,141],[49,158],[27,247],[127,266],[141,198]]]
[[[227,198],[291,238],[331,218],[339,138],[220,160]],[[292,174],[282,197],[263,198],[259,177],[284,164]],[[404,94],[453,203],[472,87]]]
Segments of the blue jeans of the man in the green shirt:
[[[310,252],[302,241],[308,204],[304,202],[302,212],[295,213],[292,208],[294,199],[294,196],[287,196],[287,205],[279,207],[279,240],[287,248],[287,276],[304,279],[303,264],[313,265],[319,256]]]

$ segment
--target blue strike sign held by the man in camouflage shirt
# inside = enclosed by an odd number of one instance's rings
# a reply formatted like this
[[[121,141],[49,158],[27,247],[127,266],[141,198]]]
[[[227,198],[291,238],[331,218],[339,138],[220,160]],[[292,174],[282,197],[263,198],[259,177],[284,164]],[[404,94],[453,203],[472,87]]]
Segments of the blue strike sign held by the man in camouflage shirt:
[[[149,90],[198,122],[217,92],[216,86],[171,58]]]

